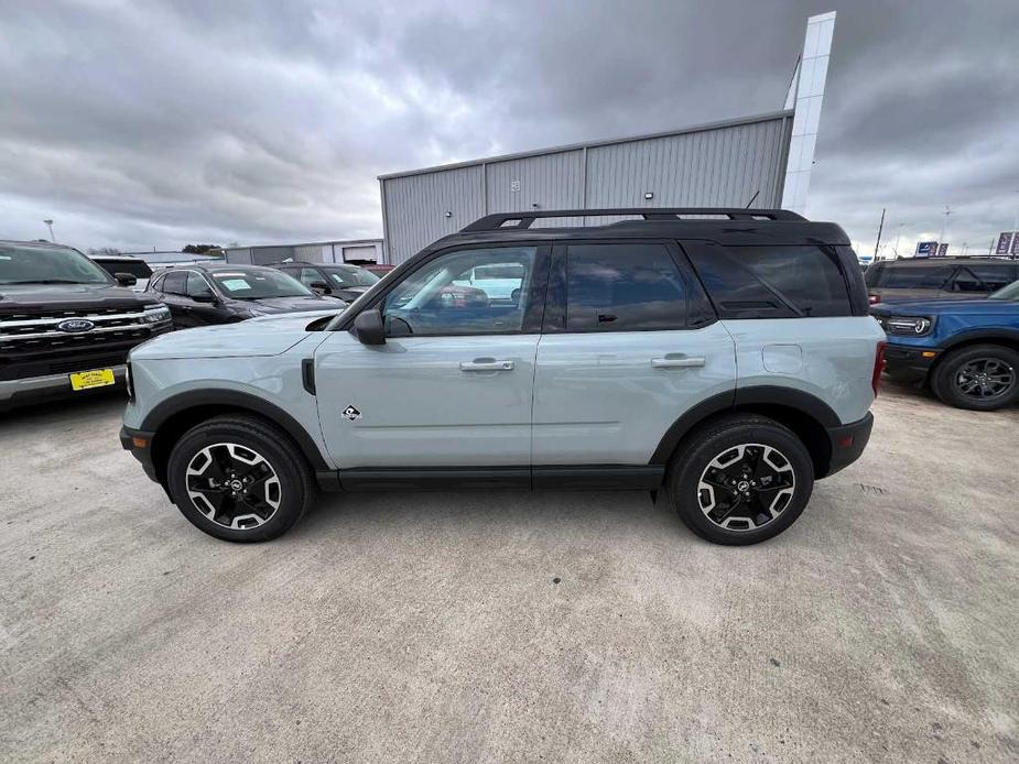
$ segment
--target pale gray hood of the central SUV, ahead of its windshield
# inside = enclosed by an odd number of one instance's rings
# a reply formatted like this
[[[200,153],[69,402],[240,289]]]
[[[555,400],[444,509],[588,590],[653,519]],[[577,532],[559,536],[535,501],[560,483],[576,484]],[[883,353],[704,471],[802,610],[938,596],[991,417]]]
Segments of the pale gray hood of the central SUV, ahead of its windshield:
[[[182,329],[138,346],[131,351],[131,360],[279,356],[308,337],[322,339],[321,332],[307,330],[318,317],[303,313]]]

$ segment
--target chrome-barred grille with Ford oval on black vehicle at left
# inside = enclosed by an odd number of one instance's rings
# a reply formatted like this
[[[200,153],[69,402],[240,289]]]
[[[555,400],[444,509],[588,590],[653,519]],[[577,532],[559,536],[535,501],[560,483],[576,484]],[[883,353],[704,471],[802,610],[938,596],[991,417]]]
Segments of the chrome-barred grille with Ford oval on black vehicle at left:
[[[147,339],[151,325],[141,308],[91,308],[87,310],[45,310],[0,316],[0,353],[34,353],[99,348],[117,342]],[[91,321],[87,331],[63,331],[57,326],[68,319]]]

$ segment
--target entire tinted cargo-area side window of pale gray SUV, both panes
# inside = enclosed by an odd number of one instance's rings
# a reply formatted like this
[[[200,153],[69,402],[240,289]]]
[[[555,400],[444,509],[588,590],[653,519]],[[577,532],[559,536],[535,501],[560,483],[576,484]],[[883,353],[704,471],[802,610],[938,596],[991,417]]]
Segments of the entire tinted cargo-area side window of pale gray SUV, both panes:
[[[724,317],[853,315],[834,250],[813,245],[690,247],[687,253]]]

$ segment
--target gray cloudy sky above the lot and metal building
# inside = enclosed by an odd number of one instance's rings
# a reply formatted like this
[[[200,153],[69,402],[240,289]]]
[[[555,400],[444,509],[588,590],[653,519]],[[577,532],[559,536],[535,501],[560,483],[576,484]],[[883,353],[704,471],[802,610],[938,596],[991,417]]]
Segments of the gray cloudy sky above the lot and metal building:
[[[904,242],[948,204],[986,251],[1019,214],[1017,0],[0,0],[0,238],[379,236],[381,173],[781,108],[828,10],[809,215],[872,248],[881,207]]]

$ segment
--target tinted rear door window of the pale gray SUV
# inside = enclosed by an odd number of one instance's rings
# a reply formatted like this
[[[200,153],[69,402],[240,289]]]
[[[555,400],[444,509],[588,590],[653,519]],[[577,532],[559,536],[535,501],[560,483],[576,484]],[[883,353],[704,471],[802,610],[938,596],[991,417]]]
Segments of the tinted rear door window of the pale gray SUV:
[[[662,244],[566,248],[566,331],[686,326],[683,276]]]

